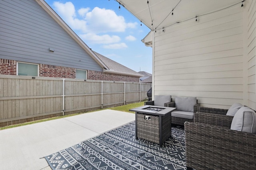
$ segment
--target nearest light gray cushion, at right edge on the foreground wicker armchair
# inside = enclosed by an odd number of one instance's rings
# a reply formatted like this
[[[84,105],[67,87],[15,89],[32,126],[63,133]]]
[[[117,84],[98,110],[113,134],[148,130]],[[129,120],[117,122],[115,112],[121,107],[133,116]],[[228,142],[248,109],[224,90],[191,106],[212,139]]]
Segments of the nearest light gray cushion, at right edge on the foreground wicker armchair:
[[[256,113],[249,107],[241,107],[233,117],[230,129],[256,134]]]

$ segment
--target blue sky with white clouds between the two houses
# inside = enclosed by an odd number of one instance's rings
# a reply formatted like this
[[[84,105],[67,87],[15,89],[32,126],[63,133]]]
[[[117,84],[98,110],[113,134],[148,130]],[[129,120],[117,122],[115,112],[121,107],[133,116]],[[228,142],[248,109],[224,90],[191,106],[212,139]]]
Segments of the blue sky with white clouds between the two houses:
[[[136,72],[152,74],[150,31],[115,0],[45,0],[93,51]]]

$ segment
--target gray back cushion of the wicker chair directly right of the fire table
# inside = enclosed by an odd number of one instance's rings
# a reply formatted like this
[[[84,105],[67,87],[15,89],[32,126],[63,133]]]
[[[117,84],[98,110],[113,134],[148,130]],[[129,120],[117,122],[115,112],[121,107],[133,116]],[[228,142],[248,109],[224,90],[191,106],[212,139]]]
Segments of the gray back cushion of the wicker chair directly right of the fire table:
[[[179,111],[194,112],[196,97],[175,97],[175,107]]]

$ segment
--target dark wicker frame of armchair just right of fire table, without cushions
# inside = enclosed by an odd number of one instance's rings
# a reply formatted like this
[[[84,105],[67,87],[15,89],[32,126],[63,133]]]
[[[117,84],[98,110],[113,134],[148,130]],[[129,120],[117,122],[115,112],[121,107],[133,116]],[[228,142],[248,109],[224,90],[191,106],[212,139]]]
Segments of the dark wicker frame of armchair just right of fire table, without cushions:
[[[196,103],[197,103],[197,100],[196,100]],[[175,102],[166,103],[164,106],[165,107],[175,107]],[[198,104],[198,103],[194,105],[194,113],[196,113],[199,110],[199,107],[200,107],[200,104]],[[193,119],[185,119],[185,118],[181,118],[181,117],[172,116],[172,124],[184,126],[184,123],[186,121],[193,122]]]

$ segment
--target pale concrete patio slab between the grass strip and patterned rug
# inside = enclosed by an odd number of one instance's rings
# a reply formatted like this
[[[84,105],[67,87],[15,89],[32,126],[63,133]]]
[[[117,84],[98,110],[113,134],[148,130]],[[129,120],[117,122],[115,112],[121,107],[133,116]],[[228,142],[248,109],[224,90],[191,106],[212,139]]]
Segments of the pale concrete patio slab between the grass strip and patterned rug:
[[[1,130],[0,169],[50,170],[44,156],[134,120],[134,113],[106,109]]]

